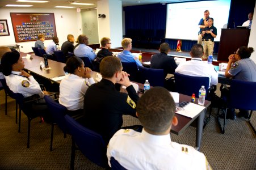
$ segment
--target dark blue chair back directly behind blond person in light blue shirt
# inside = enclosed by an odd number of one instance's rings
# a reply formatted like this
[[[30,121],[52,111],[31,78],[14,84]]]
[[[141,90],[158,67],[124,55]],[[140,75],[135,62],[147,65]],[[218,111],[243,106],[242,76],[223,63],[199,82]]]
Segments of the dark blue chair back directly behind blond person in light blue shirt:
[[[130,76],[129,79],[133,82],[137,82],[138,80],[138,66],[136,62],[121,62],[123,66],[123,71],[126,71]]]

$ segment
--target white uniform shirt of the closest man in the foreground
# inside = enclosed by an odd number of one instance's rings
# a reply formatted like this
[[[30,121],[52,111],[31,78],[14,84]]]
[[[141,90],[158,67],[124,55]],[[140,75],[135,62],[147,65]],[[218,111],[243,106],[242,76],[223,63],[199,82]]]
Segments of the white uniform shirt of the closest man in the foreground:
[[[171,142],[170,134],[152,135],[120,129],[110,139],[108,164],[114,157],[126,169],[207,169],[204,154],[187,145]]]

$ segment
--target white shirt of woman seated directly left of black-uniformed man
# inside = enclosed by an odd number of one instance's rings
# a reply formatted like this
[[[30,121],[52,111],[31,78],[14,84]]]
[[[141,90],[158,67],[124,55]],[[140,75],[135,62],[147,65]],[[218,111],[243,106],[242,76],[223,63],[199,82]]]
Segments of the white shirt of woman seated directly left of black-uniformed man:
[[[89,82],[89,83],[88,83]],[[83,109],[83,99],[90,84],[94,84],[93,78],[83,79],[74,74],[68,74],[60,83],[59,103],[64,105],[69,111]]]

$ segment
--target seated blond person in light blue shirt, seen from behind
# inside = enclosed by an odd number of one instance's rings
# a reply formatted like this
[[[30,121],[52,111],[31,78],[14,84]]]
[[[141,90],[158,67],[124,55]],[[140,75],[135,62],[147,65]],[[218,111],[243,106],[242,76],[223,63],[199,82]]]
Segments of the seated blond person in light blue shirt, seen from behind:
[[[134,56],[130,50],[132,49],[132,39],[124,38],[121,42],[123,46],[123,52],[117,54],[117,57],[120,58],[121,62],[136,62],[137,66],[142,67],[142,63],[139,58]]]

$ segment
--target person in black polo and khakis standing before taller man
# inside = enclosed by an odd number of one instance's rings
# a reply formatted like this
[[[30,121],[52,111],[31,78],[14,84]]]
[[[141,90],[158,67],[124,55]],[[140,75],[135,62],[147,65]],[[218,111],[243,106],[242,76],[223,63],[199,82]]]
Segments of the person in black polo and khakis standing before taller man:
[[[213,55],[214,38],[217,36],[217,28],[213,26],[213,18],[208,19],[208,27],[202,29],[202,41],[204,46],[203,59],[207,59],[209,55]]]

